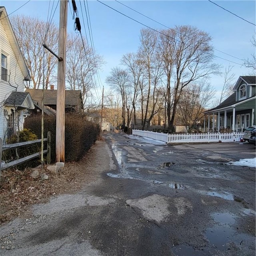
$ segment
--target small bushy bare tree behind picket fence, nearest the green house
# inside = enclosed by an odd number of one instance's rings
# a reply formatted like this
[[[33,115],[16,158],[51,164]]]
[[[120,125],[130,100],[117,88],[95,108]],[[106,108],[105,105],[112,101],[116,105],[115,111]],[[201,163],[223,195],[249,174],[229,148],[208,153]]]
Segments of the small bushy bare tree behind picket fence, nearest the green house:
[[[199,84],[190,84],[180,94],[177,118],[186,126],[189,133],[203,118],[203,112],[210,104],[214,93],[215,90],[209,83],[201,81]]]

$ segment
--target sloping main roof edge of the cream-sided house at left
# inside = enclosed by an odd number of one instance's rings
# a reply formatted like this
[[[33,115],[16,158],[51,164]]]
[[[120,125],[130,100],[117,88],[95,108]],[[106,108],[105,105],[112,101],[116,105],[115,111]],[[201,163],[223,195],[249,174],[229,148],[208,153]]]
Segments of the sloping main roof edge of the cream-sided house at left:
[[[18,40],[14,34],[12,25],[10,23],[8,14],[4,8],[4,6],[0,6],[0,22],[2,22],[2,25],[4,26],[4,30],[8,36],[8,39],[10,41],[10,44],[12,46],[12,50],[14,52],[14,55],[16,57],[16,60],[20,66],[22,75],[24,76],[24,80],[25,81],[29,81],[31,80],[29,71],[28,71],[28,67],[26,65],[24,56],[20,50],[20,46],[18,44]]]

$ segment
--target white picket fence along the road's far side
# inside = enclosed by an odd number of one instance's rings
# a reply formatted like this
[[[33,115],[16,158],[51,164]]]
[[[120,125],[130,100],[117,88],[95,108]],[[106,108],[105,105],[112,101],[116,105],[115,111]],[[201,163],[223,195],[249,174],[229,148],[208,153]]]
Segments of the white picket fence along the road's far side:
[[[189,142],[239,142],[243,137],[242,132],[230,133],[193,133],[193,134],[166,134],[162,132],[151,132],[142,130],[132,130],[132,134],[152,138],[154,140],[161,140],[166,143],[189,143]]]

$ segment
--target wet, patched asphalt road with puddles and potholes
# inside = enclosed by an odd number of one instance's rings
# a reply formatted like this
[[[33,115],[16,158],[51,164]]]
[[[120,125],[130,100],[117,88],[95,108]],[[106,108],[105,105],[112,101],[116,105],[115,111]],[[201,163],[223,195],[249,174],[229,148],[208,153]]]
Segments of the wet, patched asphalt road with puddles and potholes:
[[[105,138],[98,180],[2,226],[0,255],[255,255],[255,168],[227,165],[254,146]]]

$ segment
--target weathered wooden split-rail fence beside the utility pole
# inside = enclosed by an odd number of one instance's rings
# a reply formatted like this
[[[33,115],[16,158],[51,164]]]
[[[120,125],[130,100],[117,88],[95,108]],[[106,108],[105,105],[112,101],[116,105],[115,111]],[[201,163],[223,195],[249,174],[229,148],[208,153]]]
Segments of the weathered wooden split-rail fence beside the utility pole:
[[[47,141],[47,149],[43,150],[43,154],[47,154],[47,162],[50,163],[50,161],[51,161],[51,134],[50,134],[50,132],[47,133],[47,138],[44,138],[43,140]],[[41,153],[42,153],[40,151],[40,152],[34,153],[32,155],[25,156],[23,158],[14,160],[12,162],[5,163],[5,162],[2,162],[2,152],[3,151],[11,149],[11,148],[24,147],[24,146],[36,144],[36,143],[39,143],[39,142],[42,142],[42,139],[3,145],[2,139],[0,138],[0,172],[4,169],[8,168],[8,167],[16,166],[18,164],[23,164],[25,162],[28,162],[31,159],[40,157]]]

